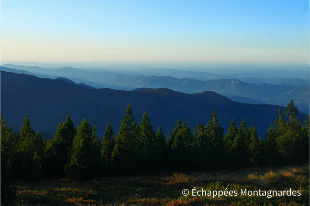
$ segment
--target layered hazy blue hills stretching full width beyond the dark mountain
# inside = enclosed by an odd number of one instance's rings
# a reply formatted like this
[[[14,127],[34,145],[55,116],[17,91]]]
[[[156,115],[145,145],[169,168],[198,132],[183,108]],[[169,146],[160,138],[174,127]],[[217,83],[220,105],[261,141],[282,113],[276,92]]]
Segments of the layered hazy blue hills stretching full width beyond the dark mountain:
[[[14,68],[24,68],[32,71],[38,71],[40,68],[33,66],[15,66],[6,64]],[[41,68],[42,69],[42,68]],[[35,74],[25,70],[15,70],[11,68],[2,67],[3,71],[26,73],[37,77],[59,78],[59,76],[48,76],[47,74]],[[23,72],[25,71],[25,72]],[[135,75],[134,73],[125,72],[117,73],[113,71],[84,71],[71,67],[42,69],[41,73],[64,75],[63,77],[71,80],[81,86],[90,85],[91,88],[111,88],[116,90],[133,90],[136,88],[168,88],[175,91],[180,91],[188,94],[199,93],[201,91],[211,90],[219,94],[223,94],[233,101],[241,103],[268,103],[274,105],[286,106],[290,99],[293,99],[300,111],[309,114],[309,81],[303,79],[281,79],[281,78],[264,78],[256,79],[253,77],[239,78],[242,79],[225,79],[233,78],[235,76],[223,76],[220,74],[211,74],[207,72],[191,72],[179,71],[174,69],[154,69],[154,72],[164,74],[170,72],[171,75],[177,74],[179,76],[188,75],[194,78],[175,78],[170,76],[144,76]],[[124,72],[124,71],[123,71]],[[139,71],[138,71],[139,72]],[[141,72],[141,71],[140,71]],[[148,73],[150,71],[145,71]],[[198,77],[198,76],[201,77]],[[76,78],[79,77],[79,78]],[[202,77],[222,78],[208,80]],[[249,83],[252,82],[252,83]],[[267,82],[267,83],[260,83]],[[71,82],[72,83],[72,82]],[[82,83],[82,84],[81,84]],[[273,84],[270,84],[273,83]],[[85,85],[84,85],[85,84]],[[286,85],[287,84],[287,85]],[[295,85],[295,86],[294,86]],[[302,85],[303,87],[296,87]],[[306,86],[304,86],[306,85]],[[87,87],[87,86],[86,86]],[[250,99],[246,99],[250,98]]]

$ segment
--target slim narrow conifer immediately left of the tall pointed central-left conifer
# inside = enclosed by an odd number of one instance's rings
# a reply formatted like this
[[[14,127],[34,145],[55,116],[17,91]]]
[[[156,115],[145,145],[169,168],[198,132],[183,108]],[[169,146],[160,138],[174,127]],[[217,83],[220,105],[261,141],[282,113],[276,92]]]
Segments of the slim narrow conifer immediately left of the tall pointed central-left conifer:
[[[113,152],[114,146],[115,146],[115,136],[113,132],[113,127],[111,126],[109,122],[104,132],[104,137],[102,140],[102,149],[101,149],[101,156],[107,162],[108,168],[111,167],[112,152]]]

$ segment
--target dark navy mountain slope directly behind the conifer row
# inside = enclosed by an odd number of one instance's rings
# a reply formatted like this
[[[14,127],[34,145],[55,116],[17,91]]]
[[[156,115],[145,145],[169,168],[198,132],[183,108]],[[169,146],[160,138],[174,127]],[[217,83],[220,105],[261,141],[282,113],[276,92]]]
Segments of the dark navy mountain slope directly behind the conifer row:
[[[89,90],[61,80],[48,81],[26,74],[1,71],[1,112],[7,125],[18,131],[27,114],[34,130],[55,132],[60,121],[69,114],[77,126],[84,118],[96,121],[98,133],[103,136],[108,122],[117,133],[127,104],[131,105],[134,117],[140,123],[144,112],[157,130],[162,126],[165,137],[178,119],[186,121],[194,129],[198,122],[206,125],[215,107],[224,134],[234,118],[239,126],[242,118],[248,125],[257,128],[264,136],[278,118],[277,105],[254,105],[233,102],[213,91],[182,94],[170,89],[147,89],[122,91],[113,89]],[[283,114],[284,115],[284,114]],[[300,113],[303,122],[307,116]]]

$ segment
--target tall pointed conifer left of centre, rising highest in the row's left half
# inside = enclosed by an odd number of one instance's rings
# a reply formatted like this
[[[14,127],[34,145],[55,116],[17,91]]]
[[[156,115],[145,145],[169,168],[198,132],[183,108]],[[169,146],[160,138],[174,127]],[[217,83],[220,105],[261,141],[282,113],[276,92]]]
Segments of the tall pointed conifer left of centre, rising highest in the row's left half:
[[[112,161],[119,175],[134,174],[140,170],[141,158],[139,151],[141,150],[141,144],[138,138],[139,131],[139,125],[135,121],[128,104],[112,152]]]

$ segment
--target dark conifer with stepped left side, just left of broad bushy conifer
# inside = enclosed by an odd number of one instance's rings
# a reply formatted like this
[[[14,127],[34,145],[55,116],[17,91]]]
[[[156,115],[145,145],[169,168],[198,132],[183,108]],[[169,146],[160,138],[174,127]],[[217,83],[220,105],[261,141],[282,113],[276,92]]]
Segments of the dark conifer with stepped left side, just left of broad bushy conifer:
[[[74,123],[68,115],[64,123],[59,123],[52,142],[47,144],[44,168],[48,177],[64,178],[67,175],[64,166],[69,163],[68,150],[75,133]]]

